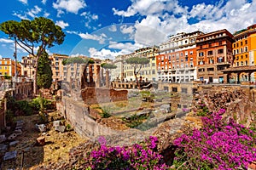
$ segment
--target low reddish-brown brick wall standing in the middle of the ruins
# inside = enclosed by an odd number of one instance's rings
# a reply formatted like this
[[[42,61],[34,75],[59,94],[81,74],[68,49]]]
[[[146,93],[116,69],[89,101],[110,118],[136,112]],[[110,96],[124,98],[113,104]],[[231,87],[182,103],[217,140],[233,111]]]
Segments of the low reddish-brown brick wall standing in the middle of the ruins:
[[[84,88],[81,91],[84,103],[89,105],[127,100],[127,94],[127,90],[110,88]]]

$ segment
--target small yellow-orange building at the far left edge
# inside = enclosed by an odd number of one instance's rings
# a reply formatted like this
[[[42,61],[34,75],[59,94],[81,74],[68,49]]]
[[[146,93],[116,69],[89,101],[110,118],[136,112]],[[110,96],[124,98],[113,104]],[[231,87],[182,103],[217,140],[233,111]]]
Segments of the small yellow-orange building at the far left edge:
[[[17,62],[17,76],[21,76],[21,66],[20,63]],[[0,75],[1,76],[10,76],[15,77],[15,60],[10,58],[1,58],[0,59]]]

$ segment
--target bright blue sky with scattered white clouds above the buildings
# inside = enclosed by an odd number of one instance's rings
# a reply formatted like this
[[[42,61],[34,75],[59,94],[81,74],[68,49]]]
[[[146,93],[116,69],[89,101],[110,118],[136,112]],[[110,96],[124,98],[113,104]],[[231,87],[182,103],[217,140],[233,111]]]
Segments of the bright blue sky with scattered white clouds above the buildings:
[[[9,0],[0,22],[44,16],[61,26],[65,41],[49,54],[113,59],[159,45],[181,31],[231,33],[256,24],[256,0]],[[0,32],[0,56],[13,58],[13,40]],[[18,47],[18,60],[26,56]]]

